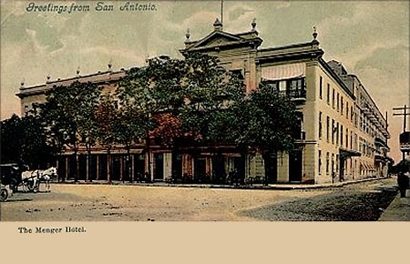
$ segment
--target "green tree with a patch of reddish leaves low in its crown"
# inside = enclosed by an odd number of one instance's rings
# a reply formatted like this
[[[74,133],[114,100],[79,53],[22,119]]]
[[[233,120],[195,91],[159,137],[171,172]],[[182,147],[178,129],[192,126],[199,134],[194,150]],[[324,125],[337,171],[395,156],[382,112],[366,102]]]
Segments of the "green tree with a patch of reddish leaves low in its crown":
[[[184,67],[184,61],[161,56],[148,60],[146,67],[131,69],[120,82],[117,95],[121,108],[125,113],[134,113],[134,122],[126,129],[131,133],[123,133],[122,141],[144,138],[148,164],[151,164],[152,139],[160,139],[161,144],[172,148],[175,146],[178,128],[168,125],[184,104],[181,89]],[[151,175],[151,166],[146,172]]]

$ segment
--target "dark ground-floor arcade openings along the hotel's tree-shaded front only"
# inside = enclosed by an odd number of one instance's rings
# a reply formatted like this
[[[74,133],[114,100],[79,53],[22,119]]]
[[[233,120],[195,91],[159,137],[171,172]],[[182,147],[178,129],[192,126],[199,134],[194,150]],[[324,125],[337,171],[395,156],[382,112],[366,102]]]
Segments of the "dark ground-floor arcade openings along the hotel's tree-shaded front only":
[[[300,182],[301,153],[290,155],[288,181]],[[78,160],[78,165],[77,165]],[[282,164],[279,162],[279,164]],[[225,154],[79,154],[62,155],[57,162],[59,181],[174,181],[198,183],[245,183],[278,181],[277,155]],[[265,175],[267,177],[265,177]]]

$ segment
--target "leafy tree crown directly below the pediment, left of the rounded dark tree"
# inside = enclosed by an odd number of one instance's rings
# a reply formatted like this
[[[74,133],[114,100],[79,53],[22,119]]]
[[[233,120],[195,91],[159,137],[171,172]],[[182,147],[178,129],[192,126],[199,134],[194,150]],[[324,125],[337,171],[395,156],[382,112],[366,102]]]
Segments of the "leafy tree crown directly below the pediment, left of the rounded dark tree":
[[[186,57],[184,100],[180,111],[185,132],[201,144],[232,143],[232,106],[243,97],[243,81],[219,66],[215,57],[192,53]],[[224,129],[226,128],[226,129]]]

